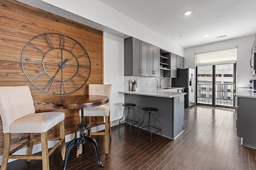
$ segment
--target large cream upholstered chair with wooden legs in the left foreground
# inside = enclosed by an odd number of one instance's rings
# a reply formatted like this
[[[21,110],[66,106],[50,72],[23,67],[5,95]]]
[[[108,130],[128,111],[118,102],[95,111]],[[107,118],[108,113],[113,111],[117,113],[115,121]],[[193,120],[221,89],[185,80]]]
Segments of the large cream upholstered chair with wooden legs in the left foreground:
[[[28,86],[0,86],[0,115],[4,132],[4,153],[1,170],[6,170],[8,159],[41,159],[42,169],[49,170],[49,155],[61,144],[62,160],[65,158],[65,114],[62,112],[35,113],[34,102]],[[60,123],[60,137],[48,139],[47,131]],[[10,151],[11,133],[30,133],[30,140]],[[41,133],[41,140],[34,139]],[[42,155],[32,155],[33,142],[41,141]],[[58,143],[48,151],[48,141]],[[13,153],[28,145],[28,155]]]

